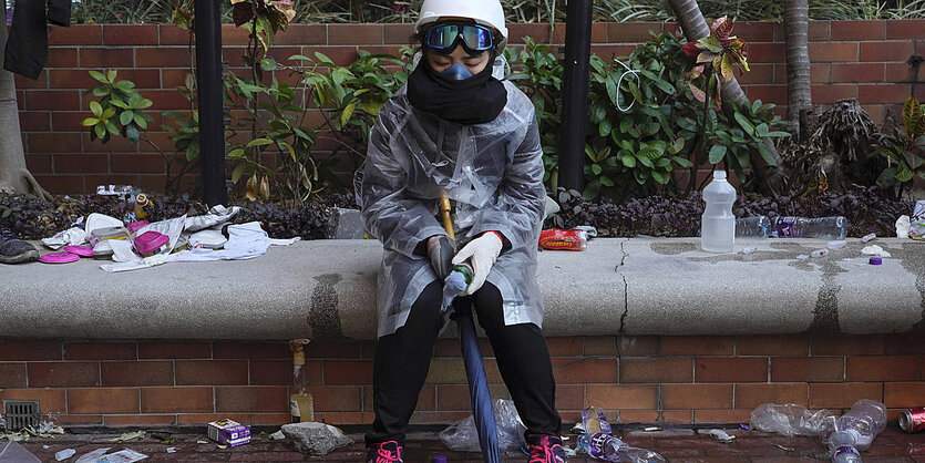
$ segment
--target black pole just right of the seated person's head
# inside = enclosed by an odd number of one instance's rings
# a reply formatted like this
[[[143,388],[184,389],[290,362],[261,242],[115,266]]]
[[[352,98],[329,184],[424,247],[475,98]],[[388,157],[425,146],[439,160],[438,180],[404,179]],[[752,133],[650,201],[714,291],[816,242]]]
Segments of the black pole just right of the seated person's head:
[[[585,186],[585,132],[588,123],[592,0],[568,0],[562,78],[558,179],[568,189]]]

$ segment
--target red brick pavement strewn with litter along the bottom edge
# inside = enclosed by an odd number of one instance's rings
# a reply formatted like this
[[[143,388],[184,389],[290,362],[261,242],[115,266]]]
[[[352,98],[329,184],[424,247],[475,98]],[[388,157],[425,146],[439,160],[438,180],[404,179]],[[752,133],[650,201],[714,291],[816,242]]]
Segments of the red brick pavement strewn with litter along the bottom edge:
[[[660,453],[669,462],[806,462],[814,454],[825,452],[815,439],[787,438],[762,432],[726,430],[737,439],[728,444],[717,442],[708,430],[671,429],[658,432],[621,431],[621,438],[630,445],[646,447]],[[74,462],[91,450],[111,446],[113,450],[129,447],[150,455],[145,462],[361,462],[364,457],[362,434],[349,434],[357,443],[339,449],[325,456],[307,456],[295,451],[286,441],[271,441],[265,434],[254,438],[248,445],[219,449],[204,434],[175,434],[175,443],[163,444],[145,438],[123,444],[113,444],[110,439],[117,434],[66,434],[56,439],[35,439],[22,443],[27,450],[43,462],[54,462],[54,453],[63,449],[76,450],[76,455],[65,460]],[[450,451],[435,433],[417,433],[410,436],[405,446],[407,462],[431,462],[434,455],[445,455],[453,463],[481,462],[477,453]],[[566,441],[575,446],[575,435]],[[201,444],[197,441],[208,441]],[[6,441],[0,441],[4,443]],[[45,449],[45,446],[48,446]],[[167,453],[168,446],[176,453]],[[818,457],[818,455],[815,455]],[[904,434],[890,426],[877,436],[874,445],[862,453],[864,462],[925,462],[925,434]],[[511,454],[505,462],[524,462],[525,455]],[[571,462],[593,462],[586,455],[573,456]],[[816,460],[819,461],[819,460]]]

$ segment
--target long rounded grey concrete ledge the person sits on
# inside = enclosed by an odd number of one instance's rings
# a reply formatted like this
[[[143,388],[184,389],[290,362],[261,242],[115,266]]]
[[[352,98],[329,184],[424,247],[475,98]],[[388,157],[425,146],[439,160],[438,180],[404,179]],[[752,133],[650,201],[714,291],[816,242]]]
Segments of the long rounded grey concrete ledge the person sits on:
[[[546,336],[890,333],[922,325],[925,243],[765,240],[751,255],[698,238],[596,239],[539,254]],[[743,248],[737,245],[737,249]],[[246,261],[107,274],[100,261],[0,266],[0,338],[374,339],[374,240],[301,241]],[[844,260],[854,258],[853,260]]]

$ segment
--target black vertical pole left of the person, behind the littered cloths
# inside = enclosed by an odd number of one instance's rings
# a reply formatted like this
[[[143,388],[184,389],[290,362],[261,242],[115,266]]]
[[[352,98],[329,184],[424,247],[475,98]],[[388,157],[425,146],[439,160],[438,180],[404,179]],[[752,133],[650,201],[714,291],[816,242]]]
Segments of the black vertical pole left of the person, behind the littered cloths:
[[[214,206],[228,204],[222,110],[222,21],[217,0],[196,0],[195,28],[203,200]]]

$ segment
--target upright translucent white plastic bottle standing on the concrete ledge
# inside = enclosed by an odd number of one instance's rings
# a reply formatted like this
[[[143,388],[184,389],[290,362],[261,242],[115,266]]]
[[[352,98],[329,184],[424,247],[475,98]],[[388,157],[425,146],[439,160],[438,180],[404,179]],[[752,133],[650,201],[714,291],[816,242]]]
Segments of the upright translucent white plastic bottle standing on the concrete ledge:
[[[713,171],[713,181],[703,188],[700,247],[709,253],[731,253],[736,244],[736,216],[732,203],[736,188],[726,179],[726,171]]]

